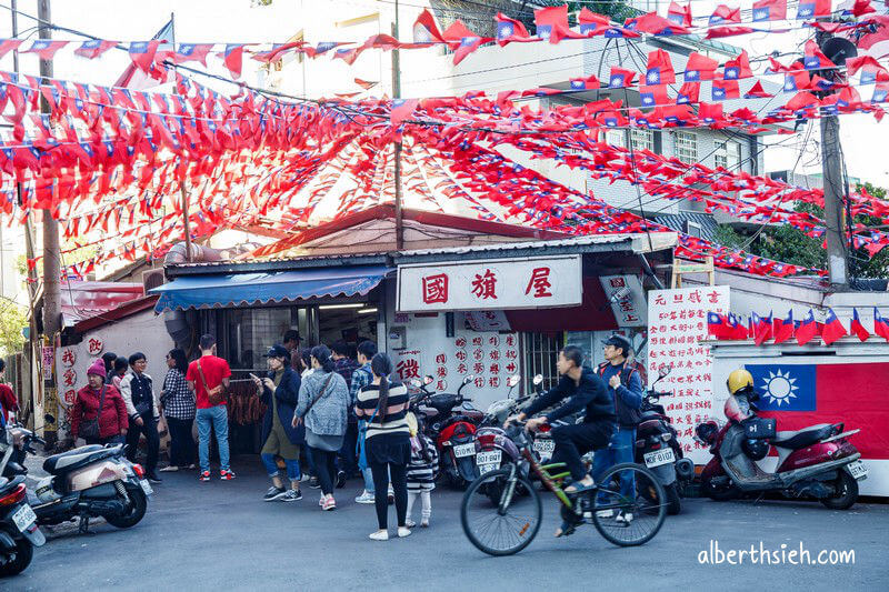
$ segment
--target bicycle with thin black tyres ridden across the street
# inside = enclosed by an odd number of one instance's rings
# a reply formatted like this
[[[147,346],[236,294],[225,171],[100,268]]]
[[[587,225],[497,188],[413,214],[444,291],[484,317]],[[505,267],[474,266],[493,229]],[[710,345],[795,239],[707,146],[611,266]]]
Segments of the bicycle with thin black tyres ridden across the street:
[[[591,520],[608,542],[635,546],[650,541],[663,525],[667,496],[658,478],[645,466],[629,462],[617,464],[606,471],[593,488],[568,493],[562,489],[570,475],[565,471],[566,464],[540,464],[531,452],[531,441],[523,423],[515,423],[507,430],[507,435],[519,448],[523,460],[520,464],[513,463],[476,479],[469,484],[460,505],[463,532],[480,551],[489,555],[511,555],[537,536],[543,506],[540,493],[528,479],[529,470],[559,500],[563,526],[567,526],[562,536],[572,534]],[[499,486],[502,489],[498,503],[493,503],[486,485],[498,480],[501,480]],[[623,494],[621,489],[630,491]],[[615,519],[621,514],[631,514],[632,518],[630,521]]]

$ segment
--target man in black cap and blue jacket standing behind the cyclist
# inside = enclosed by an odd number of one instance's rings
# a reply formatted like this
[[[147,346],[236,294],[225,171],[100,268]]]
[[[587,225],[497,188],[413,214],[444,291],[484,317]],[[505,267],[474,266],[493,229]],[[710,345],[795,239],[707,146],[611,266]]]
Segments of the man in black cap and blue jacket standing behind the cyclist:
[[[633,446],[636,445],[636,427],[639,424],[642,407],[642,380],[639,372],[629,362],[632,354],[632,344],[623,335],[613,334],[603,342],[605,363],[599,364],[598,373],[608,384],[608,390],[615,399],[615,412],[618,417],[618,429],[611,437],[608,448],[599,451],[592,459],[592,478],[599,478],[611,466],[621,462],[633,462]],[[629,472],[629,471],[627,471]],[[623,478],[627,479],[623,479]],[[620,491],[628,498],[633,496],[636,483],[632,474],[621,475]],[[602,500],[605,502],[605,500]],[[612,510],[602,510],[600,516],[611,518]],[[621,511],[615,519],[617,522],[629,523],[632,514]]]

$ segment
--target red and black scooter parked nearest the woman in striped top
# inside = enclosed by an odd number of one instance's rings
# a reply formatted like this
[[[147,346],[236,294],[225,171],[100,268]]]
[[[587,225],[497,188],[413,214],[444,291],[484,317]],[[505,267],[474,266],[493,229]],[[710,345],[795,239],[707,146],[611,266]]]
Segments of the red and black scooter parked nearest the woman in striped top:
[[[431,377],[427,377],[421,387],[422,394],[416,401],[423,415],[426,433],[438,448],[440,473],[449,484],[461,489],[477,475],[476,429],[482,414],[476,410],[462,409],[463,403],[471,401],[462,395],[462,391],[472,380],[473,377],[466,377],[455,394],[432,393],[427,390],[432,382]],[[458,407],[460,409],[456,410]]]

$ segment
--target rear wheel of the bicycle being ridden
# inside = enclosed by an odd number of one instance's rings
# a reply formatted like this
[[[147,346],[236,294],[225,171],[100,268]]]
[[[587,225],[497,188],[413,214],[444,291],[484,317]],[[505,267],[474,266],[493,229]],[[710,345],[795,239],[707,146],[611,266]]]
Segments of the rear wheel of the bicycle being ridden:
[[[619,546],[643,544],[655,536],[667,515],[667,494],[658,478],[642,466],[625,462],[606,471],[592,503],[592,523],[605,539]]]

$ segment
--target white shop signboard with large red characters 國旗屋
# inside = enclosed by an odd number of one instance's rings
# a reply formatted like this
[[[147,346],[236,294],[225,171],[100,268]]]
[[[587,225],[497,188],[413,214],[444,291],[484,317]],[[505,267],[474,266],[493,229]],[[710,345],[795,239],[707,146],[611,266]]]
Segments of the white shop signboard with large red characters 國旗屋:
[[[399,265],[399,312],[577,307],[580,255]]]

